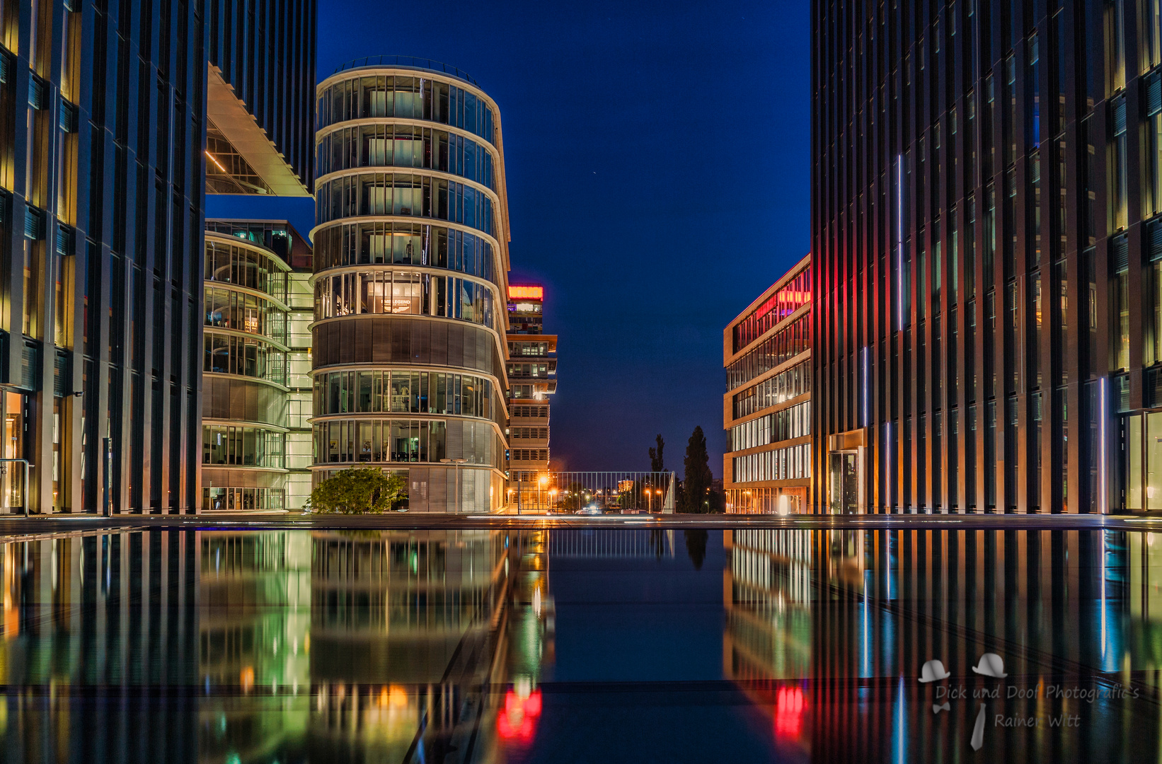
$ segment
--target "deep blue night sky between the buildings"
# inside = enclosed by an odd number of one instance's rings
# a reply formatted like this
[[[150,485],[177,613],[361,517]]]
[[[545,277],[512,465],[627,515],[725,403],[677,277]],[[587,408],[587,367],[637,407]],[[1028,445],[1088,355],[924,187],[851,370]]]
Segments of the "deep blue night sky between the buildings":
[[[564,469],[648,469],[661,433],[681,470],[701,425],[722,476],[723,326],[808,252],[809,45],[805,1],[318,3],[320,79],[421,56],[500,104],[510,281],[545,284],[560,334]]]

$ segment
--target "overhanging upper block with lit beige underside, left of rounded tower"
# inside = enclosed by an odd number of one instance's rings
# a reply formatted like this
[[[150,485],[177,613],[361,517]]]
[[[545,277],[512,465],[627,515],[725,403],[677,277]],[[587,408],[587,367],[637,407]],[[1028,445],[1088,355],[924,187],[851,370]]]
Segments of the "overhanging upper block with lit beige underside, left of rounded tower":
[[[315,0],[209,0],[206,193],[310,196]]]

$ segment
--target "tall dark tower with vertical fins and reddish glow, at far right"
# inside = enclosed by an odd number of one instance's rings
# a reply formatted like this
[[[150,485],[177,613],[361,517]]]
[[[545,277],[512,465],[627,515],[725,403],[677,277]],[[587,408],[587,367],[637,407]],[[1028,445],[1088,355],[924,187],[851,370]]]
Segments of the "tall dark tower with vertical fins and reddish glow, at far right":
[[[819,510],[1162,507],[1156,3],[813,7]]]

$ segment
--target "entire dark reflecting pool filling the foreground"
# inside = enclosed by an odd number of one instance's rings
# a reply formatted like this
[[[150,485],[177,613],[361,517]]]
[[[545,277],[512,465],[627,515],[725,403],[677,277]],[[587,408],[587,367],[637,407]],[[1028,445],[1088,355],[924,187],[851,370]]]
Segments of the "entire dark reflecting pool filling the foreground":
[[[149,531],[0,569],[5,762],[1162,758],[1149,533]]]

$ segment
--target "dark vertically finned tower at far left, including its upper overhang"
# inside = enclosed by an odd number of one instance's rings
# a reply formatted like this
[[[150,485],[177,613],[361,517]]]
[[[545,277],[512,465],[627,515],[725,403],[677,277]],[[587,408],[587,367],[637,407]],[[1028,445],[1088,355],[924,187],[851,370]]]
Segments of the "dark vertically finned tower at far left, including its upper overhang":
[[[201,504],[207,72],[309,188],[309,80],[301,107],[275,94],[289,58],[314,70],[314,23],[309,0],[0,2],[0,457],[31,464],[0,513]]]

